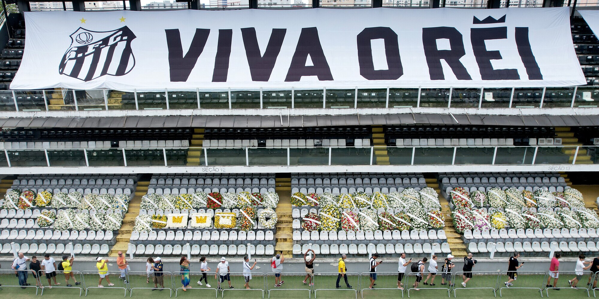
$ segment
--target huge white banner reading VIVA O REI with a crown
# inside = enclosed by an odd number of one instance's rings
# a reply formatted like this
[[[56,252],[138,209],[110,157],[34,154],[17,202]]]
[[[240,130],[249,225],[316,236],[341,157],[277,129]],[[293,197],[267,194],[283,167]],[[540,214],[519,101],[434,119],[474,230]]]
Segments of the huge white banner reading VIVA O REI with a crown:
[[[11,89],[586,84],[567,7],[44,11],[25,22]]]

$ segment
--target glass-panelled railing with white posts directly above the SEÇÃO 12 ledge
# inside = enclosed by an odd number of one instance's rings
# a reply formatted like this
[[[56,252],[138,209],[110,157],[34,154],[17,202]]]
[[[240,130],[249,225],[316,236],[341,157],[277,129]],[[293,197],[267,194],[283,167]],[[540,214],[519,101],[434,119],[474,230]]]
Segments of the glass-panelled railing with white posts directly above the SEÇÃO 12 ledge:
[[[379,161],[375,152],[387,151]],[[3,153],[2,153],[3,152]],[[571,165],[595,164],[597,146],[222,147],[0,149],[2,167]]]

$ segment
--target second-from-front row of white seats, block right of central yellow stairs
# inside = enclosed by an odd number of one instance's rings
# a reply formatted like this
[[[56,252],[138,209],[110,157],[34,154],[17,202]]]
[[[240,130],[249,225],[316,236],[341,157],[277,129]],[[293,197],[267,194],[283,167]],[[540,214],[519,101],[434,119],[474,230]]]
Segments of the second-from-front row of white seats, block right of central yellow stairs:
[[[294,219],[295,221],[299,219]],[[294,227],[295,228],[295,227]],[[300,226],[301,228],[301,226]],[[447,240],[444,230],[412,230],[412,231],[399,231],[399,230],[376,230],[376,231],[299,231],[295,230],[293,233],[294,241],[345,241],[345,240],[404,240],[404,241],[416,241],[416,240]]]

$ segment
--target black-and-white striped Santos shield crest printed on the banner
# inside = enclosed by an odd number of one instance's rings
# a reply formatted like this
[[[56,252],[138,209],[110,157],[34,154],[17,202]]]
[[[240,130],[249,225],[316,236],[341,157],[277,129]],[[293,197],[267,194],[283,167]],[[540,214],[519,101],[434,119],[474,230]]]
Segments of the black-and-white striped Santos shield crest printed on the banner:
[[[79,28],[70,36],[71,47],[58,69],[61,75],[87,82],[104,75],[122,76],[135,66],[131,51],[135,35],[127,26],[112,31]]]

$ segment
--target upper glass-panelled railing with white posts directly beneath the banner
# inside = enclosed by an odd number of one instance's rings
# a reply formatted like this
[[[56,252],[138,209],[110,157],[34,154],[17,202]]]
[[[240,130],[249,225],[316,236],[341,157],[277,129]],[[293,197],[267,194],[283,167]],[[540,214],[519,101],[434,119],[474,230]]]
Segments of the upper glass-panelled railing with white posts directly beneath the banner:
[[[50,105],[50,99],[62,100]],[[2,90],[2,111],[110,111],[147,109],[335,108],[596,108],[599,87],[386,87],[346,89],[226,89],[132,92]],[[51,109],[59,106],[60,109]]]

